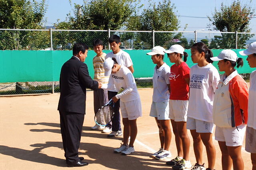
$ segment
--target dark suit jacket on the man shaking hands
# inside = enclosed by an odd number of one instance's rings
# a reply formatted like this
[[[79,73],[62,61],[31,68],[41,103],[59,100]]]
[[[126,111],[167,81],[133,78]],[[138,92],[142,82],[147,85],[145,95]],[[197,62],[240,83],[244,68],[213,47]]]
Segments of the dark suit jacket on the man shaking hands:
[[[58,110],[85,114],[86,88],[98,90],[98,82],[89,76],[87,65],[72,56],[60,71]]]

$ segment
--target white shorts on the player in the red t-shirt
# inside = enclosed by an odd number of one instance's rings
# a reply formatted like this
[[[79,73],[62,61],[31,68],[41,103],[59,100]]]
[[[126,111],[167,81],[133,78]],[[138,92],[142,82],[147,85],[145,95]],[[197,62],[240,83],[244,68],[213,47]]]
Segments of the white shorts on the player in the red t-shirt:
[[[188,100],[169,100],[169,118],[175,122],[186,122]]]

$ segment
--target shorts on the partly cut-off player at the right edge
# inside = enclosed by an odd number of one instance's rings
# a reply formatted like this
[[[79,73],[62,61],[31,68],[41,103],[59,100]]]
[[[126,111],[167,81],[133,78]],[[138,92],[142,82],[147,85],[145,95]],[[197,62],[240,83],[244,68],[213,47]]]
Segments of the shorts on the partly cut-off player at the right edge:
[[[245,150],[256,154],[256,129],[247,126],[245,136]]]

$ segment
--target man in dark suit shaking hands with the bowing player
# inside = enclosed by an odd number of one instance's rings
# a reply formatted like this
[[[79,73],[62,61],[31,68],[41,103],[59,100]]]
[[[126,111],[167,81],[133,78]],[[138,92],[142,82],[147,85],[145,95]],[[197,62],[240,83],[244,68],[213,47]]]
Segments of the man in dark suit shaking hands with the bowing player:
[[[78,157],[85,114],[86,88],[98,90],[101,83],[92,80],[87,65],[88,46],[82,42],[73,46],[73,56],[63,64],[60,71],[60,130],[68,167],[86,166]]]

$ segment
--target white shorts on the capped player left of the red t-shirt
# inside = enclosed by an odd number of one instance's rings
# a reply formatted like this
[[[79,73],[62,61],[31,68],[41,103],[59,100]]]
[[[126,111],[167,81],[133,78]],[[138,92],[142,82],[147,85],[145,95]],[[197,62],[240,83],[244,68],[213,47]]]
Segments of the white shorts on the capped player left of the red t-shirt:
[[[170,120],[169,102],[152,102],[149,116],[158,120]]]

